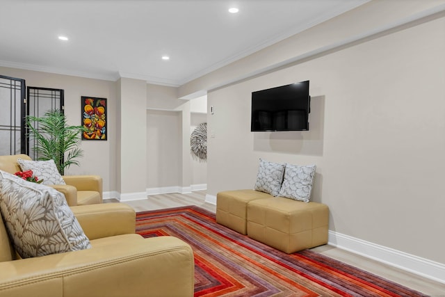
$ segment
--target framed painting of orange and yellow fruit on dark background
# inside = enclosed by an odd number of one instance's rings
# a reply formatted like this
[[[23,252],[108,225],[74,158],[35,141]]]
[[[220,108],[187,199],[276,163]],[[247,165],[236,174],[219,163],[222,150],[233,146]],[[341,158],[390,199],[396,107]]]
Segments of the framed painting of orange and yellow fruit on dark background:
[[[82,96],[82,140],[106,141],[106,98]]]

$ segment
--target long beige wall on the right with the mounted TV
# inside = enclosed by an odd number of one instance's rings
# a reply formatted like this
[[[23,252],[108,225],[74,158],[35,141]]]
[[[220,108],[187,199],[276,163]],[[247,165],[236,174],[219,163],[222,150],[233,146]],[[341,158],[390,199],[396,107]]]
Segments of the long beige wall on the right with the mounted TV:
[[[444,17],[208,93],[208,193],[253,188],[259,158],[316,164],[330,230],[445,264]],[[290,50],[290,49],[288,49]],[[310,131],[250,132],[251,92],[310,81]]]

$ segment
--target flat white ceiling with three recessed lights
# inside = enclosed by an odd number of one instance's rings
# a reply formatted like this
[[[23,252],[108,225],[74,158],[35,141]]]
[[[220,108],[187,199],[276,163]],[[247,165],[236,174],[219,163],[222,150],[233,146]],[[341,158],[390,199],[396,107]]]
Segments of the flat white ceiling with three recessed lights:
[[[0,65],[180,86],[366,1],[0,0]]]

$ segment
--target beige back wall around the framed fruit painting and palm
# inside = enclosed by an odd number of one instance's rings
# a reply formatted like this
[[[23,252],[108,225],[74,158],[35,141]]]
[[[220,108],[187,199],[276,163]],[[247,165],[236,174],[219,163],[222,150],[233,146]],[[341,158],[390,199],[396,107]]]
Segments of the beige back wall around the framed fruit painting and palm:
[[[71,166],[66,175],[97,174],[104,191],[115,191],[116,176],[116,85],[113,81],[0,67],[0,74],[25,79],[26,86],[65,90],[65,115],[70,125],[81,125],[81,96],[107,98],[107,141],[81,141],[81,166]]]

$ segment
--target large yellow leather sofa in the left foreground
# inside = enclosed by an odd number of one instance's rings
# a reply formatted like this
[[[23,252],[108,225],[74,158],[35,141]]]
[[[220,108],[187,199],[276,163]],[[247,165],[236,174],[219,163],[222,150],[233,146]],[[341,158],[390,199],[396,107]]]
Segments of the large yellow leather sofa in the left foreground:
[[[193,251],[172,236],[143,239],[126,204],[71,207],[92,248],[17,259],[0,217],[0,297],[193,296]]]

